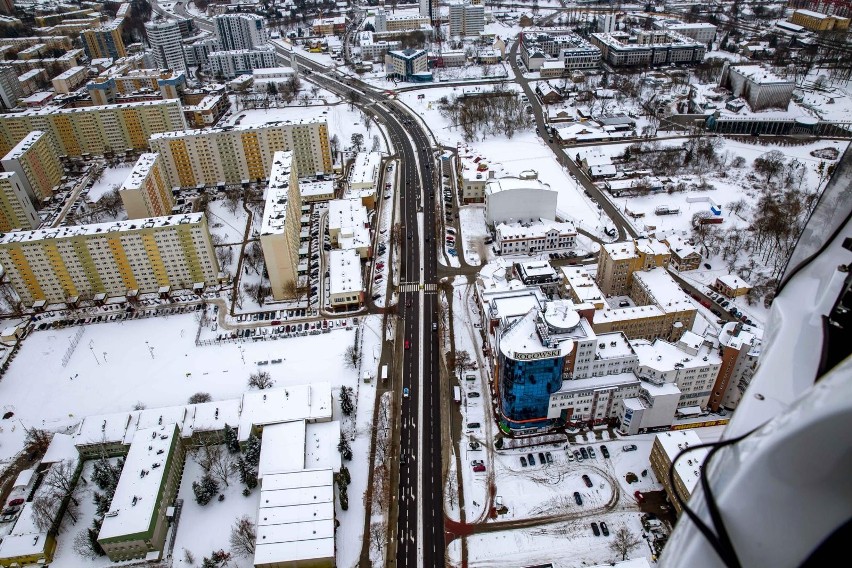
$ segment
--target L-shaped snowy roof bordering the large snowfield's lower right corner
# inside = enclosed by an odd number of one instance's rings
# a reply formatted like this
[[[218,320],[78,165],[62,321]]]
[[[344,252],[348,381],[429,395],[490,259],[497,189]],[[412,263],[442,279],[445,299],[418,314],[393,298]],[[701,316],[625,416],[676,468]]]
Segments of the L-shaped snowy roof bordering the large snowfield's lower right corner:
[[[248,440],[253,426],[293,420],[331,420],[331,384],[316,382],[244,393],[239,439]]]

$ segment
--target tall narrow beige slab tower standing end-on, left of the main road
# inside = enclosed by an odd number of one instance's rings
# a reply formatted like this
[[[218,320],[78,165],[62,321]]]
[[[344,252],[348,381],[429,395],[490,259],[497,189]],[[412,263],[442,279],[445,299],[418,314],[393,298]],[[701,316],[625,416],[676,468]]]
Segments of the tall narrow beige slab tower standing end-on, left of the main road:
[[[275,300],[296,294],[301,201],[293,152],[275,152],[260,229],[260,247]]]

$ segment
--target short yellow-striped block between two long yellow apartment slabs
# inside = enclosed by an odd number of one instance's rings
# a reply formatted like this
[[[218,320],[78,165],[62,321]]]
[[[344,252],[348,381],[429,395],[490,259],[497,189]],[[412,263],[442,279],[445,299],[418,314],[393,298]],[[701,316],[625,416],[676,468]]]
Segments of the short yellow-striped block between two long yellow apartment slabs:
[[[118,193],[128,219],[170,215],[174,207],[174,198],[159,154],[139,156]]]

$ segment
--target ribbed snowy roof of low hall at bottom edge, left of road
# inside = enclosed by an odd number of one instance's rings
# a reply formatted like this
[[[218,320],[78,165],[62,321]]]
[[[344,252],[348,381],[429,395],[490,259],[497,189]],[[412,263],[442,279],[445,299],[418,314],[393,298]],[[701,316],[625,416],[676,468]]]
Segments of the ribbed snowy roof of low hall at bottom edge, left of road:
[[[254,565],[334,559],[333,480],[331,469],[262,479]]]

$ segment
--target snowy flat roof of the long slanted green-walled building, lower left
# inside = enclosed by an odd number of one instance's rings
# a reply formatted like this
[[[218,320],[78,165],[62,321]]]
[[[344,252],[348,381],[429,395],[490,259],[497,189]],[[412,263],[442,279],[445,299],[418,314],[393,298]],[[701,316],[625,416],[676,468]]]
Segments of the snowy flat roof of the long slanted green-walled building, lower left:
[[[163,424],[136,433],[124,460],[109,512],[98,539],[146,533],[159,509],[158,496],[167,473],[177,425]]]

